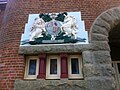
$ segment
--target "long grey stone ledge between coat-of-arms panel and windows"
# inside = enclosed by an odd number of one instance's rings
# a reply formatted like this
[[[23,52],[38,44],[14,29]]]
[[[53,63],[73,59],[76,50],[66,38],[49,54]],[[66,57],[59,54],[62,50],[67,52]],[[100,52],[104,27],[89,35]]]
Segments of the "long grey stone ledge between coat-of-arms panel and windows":
[[[89,44],[44,44],[20,46],[19,54],[39,54],[39,53],[80,53],[89,50]]]

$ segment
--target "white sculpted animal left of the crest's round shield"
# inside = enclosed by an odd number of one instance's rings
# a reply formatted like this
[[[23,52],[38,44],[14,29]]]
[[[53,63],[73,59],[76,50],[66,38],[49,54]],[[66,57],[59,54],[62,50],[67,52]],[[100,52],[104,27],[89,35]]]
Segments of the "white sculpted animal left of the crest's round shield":
[[[35,41],[35,38],[43,37],[45,33],[45,21],[42,18],[35,18],[34,23],[30,29],[30,40]]]

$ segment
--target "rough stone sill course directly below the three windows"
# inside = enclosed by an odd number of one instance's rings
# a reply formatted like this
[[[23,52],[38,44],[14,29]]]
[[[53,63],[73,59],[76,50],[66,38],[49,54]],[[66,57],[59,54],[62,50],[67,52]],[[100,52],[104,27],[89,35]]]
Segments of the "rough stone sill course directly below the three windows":
[[[16,80],[14,90],[85,90],[84,80]]]

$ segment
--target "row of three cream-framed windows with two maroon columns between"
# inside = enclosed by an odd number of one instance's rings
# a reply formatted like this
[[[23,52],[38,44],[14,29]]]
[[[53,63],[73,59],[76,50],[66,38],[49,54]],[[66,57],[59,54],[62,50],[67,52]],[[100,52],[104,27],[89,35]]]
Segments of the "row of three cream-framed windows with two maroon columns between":
[[[39,55],[26,57],[25,79],[81,79],[81,55]]]

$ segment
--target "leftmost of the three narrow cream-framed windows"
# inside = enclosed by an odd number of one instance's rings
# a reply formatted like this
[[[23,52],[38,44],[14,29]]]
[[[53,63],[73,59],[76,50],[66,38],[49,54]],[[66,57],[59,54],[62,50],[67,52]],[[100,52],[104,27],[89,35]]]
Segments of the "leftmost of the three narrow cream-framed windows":
[[[39,59],[35,56],[26,58],[25,79],[36,79],[38,75]]]

